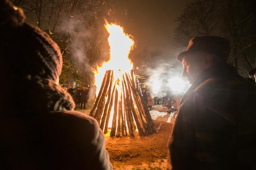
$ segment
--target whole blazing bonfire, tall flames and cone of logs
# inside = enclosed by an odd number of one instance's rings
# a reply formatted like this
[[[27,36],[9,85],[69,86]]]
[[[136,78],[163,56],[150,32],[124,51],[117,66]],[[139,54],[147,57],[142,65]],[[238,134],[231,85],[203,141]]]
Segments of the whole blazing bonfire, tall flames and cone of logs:
[[[155,133],[147,104],[142,99],[128,55],[134,42],[119,25],[106,24],[110,59],[95,70],[96,101],[90,116],[110,136]]]

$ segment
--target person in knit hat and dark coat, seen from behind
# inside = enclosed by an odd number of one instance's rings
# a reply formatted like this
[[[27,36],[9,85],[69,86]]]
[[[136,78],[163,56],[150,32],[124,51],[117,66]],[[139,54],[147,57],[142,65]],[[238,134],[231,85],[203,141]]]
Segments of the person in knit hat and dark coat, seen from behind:
[[[58,45],[8,0],[0,33],[0,169],[112,169],[97,121],[58,85]]]

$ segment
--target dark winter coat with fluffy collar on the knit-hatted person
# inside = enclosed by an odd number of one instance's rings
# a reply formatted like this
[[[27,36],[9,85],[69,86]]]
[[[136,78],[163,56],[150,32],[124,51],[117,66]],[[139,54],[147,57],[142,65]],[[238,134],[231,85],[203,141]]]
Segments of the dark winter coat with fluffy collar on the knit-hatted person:
[[[23,100],[0,104],[0,169],[112,169],[98,122],[70,94],[51,80],[22,83],[12,94]]]

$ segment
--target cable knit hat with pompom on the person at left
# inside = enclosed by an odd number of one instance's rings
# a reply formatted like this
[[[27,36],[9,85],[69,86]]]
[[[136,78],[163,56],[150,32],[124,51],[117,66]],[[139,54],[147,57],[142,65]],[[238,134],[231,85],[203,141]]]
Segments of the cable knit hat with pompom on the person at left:
[[[1,65],[7,75],[39,76],[57,80],[62,56],[56,43],[42,30],[24,23],[22,10],[0,1]]]

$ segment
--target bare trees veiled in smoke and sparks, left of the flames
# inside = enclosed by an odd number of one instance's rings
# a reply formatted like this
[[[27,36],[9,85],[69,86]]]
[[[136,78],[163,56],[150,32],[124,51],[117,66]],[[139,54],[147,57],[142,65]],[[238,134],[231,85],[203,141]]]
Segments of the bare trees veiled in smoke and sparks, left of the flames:
[[[28,23],[46,31],[60,46],[60,82],[89,84],[91,67],[100,60],[105,43],[98,37],[99,27],[111,4],[94,0],[13,0],[13,4],[23,8]]]

